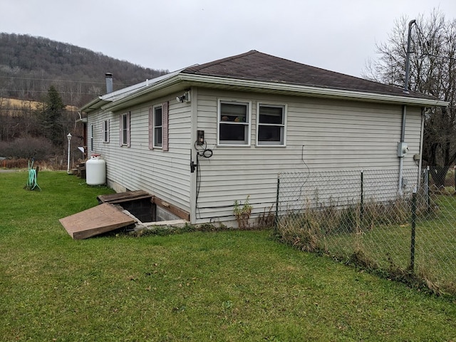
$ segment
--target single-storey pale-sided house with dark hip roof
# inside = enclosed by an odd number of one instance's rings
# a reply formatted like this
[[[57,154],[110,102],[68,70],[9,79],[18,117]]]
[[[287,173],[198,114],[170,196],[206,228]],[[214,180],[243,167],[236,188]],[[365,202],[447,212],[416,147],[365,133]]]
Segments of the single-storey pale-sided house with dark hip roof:
[[[117,192],[145,190],[192,224],[276,202],[279,172],[420,167],[425,108],[446,103],[258,51],[83,105],[88,155]]]

